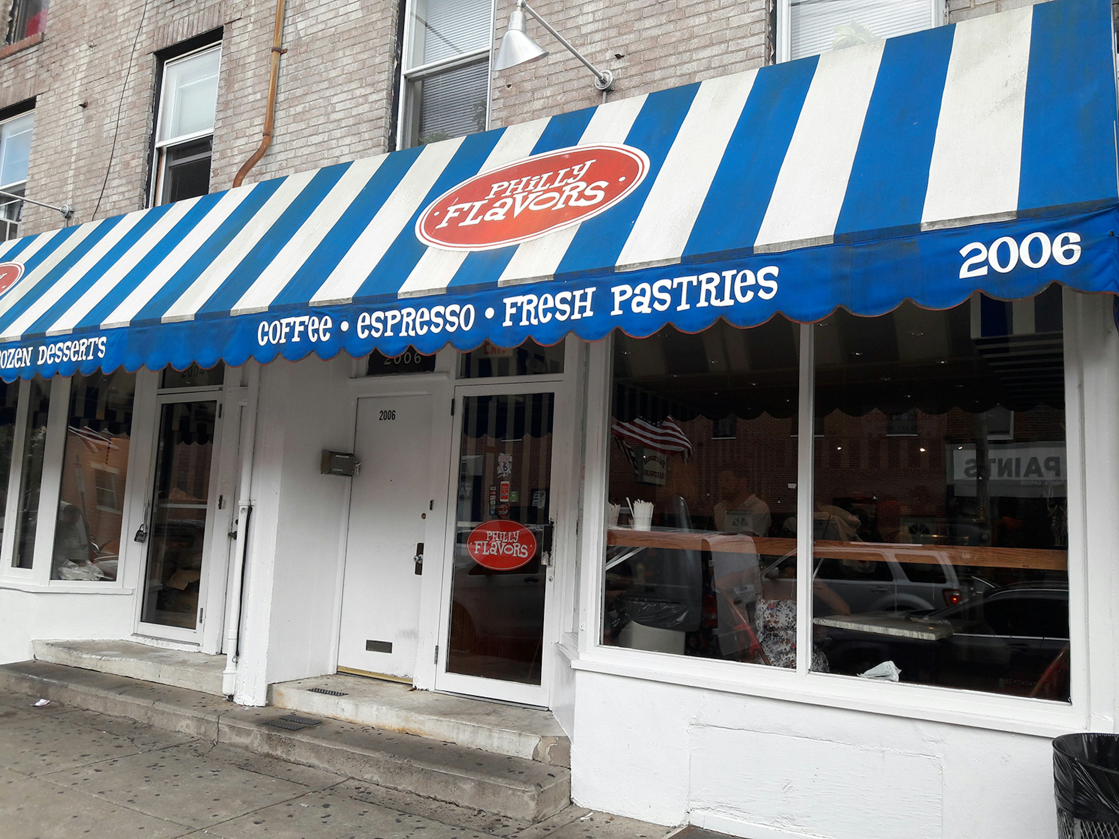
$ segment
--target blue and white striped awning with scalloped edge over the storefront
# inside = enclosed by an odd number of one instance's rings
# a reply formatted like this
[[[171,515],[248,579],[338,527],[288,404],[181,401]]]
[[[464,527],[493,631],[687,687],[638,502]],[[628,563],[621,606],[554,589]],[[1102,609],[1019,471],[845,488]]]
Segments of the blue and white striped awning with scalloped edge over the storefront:
[[[455,185],[592,144],[646,159],[609,209],[419,237]],[[0,375],[1116,292],[1117,205],[1111,7],[1053,0],[3,243]]]

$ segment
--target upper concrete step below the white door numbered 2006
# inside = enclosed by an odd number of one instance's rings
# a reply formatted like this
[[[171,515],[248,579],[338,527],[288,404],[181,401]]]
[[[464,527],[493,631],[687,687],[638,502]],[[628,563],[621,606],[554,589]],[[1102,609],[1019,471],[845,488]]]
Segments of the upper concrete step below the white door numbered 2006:
[[[539,708],[413,690],[407,685],[344,673],[278,682],[270,688],[269,701],[300,714],[415,734],[551,766],[571,765],[571,741],[551,711]]]

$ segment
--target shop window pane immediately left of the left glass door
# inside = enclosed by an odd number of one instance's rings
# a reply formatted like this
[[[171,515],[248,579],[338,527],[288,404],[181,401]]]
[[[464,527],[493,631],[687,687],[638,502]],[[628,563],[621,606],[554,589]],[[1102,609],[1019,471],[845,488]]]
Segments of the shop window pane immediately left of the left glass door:
[[[74,376],[51,579],[116,579],[135,375]]]

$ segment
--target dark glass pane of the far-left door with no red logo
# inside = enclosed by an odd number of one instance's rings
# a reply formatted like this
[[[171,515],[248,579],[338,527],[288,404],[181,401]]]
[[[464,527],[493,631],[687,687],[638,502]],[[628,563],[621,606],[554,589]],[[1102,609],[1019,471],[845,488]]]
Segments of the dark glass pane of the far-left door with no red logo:
[[[160,413],[142,616],[148,623],[197,624],[216,424],[216,402],[164,405]]]

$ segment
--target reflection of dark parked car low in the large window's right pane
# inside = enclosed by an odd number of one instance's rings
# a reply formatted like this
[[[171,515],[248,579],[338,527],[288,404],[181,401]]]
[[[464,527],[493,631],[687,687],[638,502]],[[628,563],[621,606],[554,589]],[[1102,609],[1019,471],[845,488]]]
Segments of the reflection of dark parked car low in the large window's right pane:
[[[906,614],[914,626],[944,628],[946,637],[935,641],[878,634],[874,615],[853,615],[866,629],[827,628],[833,672],[857,676],[892,660],[902,681],[1069,699],[1066,583],[1016,583],[953,606]]]

